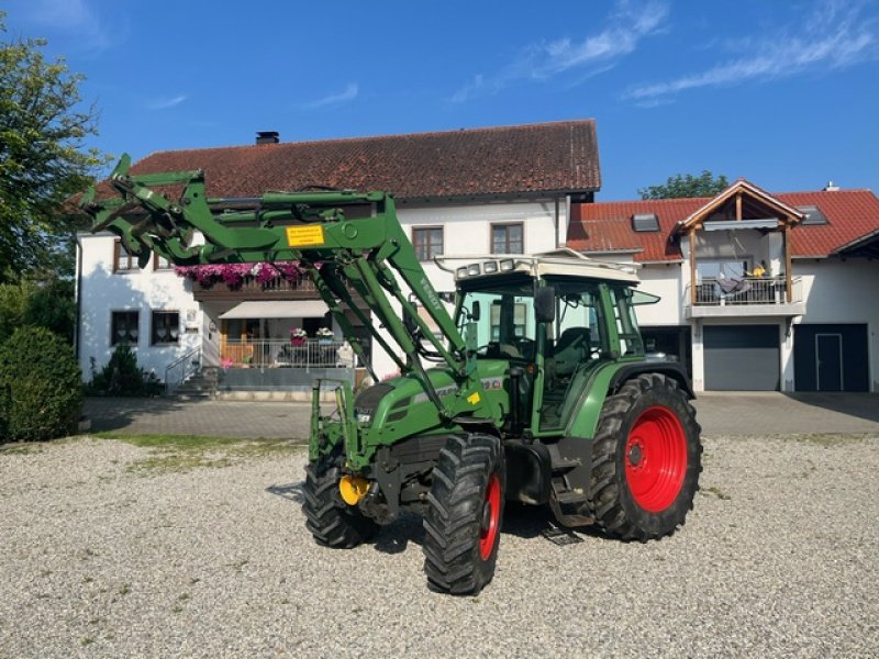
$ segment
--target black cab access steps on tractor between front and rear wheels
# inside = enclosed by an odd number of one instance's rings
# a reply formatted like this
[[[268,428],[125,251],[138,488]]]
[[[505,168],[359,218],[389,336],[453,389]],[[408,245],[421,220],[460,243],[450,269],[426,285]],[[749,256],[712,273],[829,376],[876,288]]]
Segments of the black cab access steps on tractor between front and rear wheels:
[[[589,463],[591,444],[565,437],[547,445],[552,466],[549,507],[561,526],[588,526],[594,522],[589,514]]]

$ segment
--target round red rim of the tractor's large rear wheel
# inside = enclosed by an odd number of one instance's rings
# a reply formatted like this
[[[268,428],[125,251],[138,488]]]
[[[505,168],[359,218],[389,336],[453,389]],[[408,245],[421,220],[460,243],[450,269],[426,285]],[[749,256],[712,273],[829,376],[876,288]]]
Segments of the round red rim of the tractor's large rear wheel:
[[[687,436],[668,407],[645,410],[625,444],[625,478],[641,507],[660,513],[671,505],[687,474]]]

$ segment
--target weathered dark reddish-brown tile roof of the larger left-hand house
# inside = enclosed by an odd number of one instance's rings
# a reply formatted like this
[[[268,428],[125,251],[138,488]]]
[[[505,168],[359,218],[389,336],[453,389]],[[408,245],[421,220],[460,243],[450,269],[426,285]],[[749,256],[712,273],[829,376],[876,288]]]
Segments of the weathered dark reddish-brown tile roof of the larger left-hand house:
[[[231,146],[152,154],[135,174],[204,169],[208,194],[255,197],[312,185],[399,199],[601,187],[594,120]]]

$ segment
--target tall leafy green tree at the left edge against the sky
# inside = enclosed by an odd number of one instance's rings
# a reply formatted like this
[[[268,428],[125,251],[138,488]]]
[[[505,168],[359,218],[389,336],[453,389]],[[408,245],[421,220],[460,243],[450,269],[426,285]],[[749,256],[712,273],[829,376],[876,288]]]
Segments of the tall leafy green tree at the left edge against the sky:
[[[0,12],[0,35],[5,35]],[[0,282],[73,267],[76,219],[62,213],[107,163],[85,139],[97,110],[79,110],[84,76],[43,55],[46,41],[0,42]]]

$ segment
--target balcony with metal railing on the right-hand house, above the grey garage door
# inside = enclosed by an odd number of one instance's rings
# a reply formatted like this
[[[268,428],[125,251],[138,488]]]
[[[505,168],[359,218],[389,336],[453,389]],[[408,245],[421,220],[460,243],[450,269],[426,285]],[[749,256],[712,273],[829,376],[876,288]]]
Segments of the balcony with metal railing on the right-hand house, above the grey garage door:
[[[791,299],[785,277],[715,279],[703,277],[696,293],[687,288],[688,319],[797,316],[805,313],[802,281],[791,278]]]

